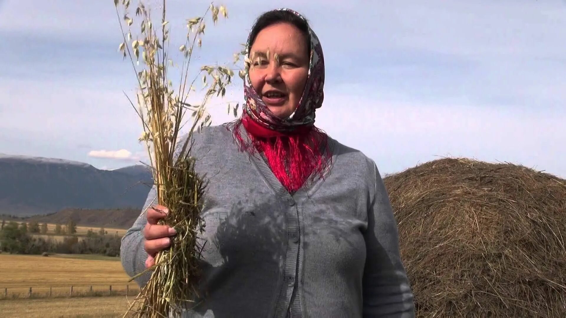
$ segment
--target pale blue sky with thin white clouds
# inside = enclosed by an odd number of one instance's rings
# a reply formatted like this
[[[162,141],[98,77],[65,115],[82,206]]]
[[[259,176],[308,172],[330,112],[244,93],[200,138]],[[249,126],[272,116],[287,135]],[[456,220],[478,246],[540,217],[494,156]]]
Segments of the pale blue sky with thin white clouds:
[[[316,126],[381,174],[468,157],[566,178],[566,0],[215,3],[229,19],[207,26],[195,67],[229,64],[264,11],[301,12],[325,57]],[[208,5],[168,1],[171,48]],[[100,169],[143,160],[121,36],[111,0],[0,0],[0,153]],[[213,123],[242,100],[238,78],[211,103]]]

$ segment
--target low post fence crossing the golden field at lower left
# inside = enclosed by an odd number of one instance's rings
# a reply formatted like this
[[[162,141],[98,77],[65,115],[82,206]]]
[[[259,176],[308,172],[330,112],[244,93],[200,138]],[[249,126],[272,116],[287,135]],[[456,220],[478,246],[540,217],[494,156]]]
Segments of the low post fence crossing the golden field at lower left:
[[[135,296],[138,285],[67,286],[67,287],[5,287],[0,289],[0,300],[20,298],[55,298],[87,296]]]

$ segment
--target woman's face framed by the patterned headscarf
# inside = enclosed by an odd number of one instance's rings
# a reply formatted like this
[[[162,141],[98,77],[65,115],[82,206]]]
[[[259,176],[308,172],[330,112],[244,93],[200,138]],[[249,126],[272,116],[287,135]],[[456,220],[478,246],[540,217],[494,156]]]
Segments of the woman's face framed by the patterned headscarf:
[[[262,29],[251,46],[251,84],[279,118],[288,118],[298,107],[308,76],[308,51],[305,35],[289,23]]]

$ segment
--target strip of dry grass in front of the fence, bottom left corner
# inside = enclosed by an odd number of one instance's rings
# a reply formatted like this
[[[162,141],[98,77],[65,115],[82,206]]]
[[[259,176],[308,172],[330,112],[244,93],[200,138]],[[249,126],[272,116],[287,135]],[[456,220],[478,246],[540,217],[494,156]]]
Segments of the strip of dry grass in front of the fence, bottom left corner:
[[[0,301],[2,317],[121,317],[133,296]]]

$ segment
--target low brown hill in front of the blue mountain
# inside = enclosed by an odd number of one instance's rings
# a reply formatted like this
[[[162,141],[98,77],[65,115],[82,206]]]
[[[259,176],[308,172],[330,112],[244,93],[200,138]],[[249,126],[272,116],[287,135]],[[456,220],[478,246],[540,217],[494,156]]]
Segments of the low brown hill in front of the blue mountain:
[[[67,224],[73,220],[79,226],[112,227],[127,229],[134,224],[141,209],[65,209],[46,216],[35,216],[26,221],[37,221],[40,224]]]

